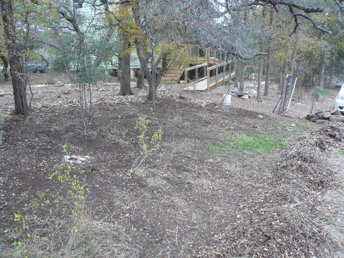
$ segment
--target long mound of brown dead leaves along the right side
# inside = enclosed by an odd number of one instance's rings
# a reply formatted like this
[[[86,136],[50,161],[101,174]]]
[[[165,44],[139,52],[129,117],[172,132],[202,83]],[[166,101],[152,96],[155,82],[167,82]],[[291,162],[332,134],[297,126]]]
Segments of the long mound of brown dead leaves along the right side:
[[[331,257],[321,221],[331,212],[322,197],[334,175],[318,157],[344,148],[344,124],[323,124],[289,145],[271,181],[222,235],[221,257]]]

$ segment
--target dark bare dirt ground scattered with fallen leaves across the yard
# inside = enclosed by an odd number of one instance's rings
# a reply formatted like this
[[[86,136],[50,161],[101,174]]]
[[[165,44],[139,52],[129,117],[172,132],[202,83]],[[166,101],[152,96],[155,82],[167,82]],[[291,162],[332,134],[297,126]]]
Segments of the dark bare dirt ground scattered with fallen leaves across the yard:
[[[84,134],[78,88],[61,80],[54,82],[31,83],[34,115],[9,115],[5,120],[0,144],[3,238],[14,224],[15,212],[31,205],[42,193],[53,194],[60,189],[48,174],[62,163],[65,154],[61,146],[66,144],[69,155],[90,157],[89,162],[76,165],[85,170],[80,180],[89,188],[87,211],[97,221],[117,225],[126,236],[113,239],[114,246],[118,243],[125,251],[112,250],[103,257],[230,257],[225,255],[224,239],[219,236],[237,222],[243,204],[255,199],[266,183],[274,180],[286,149],[318,128],[304,119],[311,108],[307,94],[298,101],[295,97],[282,116],[272,113],[279,97],[277,90],[263,97],[263,103],[232,98],[230,106],[223,106],[226,86],[211,92],[182,92],[181,85],[173,85],[158,92],[157,110],[153,111],[146,100],[147,89],[133,88],[135,95],[121,97],[116,95],[118,84],[107,82],[93,87],[90,132]],[[5,114],[13,106],[11,86],[0,85],[0,90],[5,91],[0,97],[0,113]],[[315,103],[315,109],[330,109],[335,94],[328,92],[325,100]],[[140,116],[149,119],[148,134],[161,126],[163,137],[159,151],[131,171],[141,149],[140,132],[135,128]],[[271,136],[283,144],[271,151],[221,148],[224,142],[237,143],[243,135]],[[342,143],[337,153],[343,149]],[[337,171],[343,172],[341,164],[337,164]],[[329,200],[333,202],[331,198],[324,202]],[[343,210],[333,209],[330,218],[340,221]],[[329,224],[326,218],[315,219]],[[338,225],[343,230],[343,223]],[[335,246],[344,245],[343,231],[339,232]],[[276,253],[273,257],[312,256]]]

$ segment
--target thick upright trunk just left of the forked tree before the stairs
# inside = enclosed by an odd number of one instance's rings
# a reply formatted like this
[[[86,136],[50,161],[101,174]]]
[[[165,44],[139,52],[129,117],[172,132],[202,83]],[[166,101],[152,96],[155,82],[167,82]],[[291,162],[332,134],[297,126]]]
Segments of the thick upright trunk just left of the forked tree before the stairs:
[[[126,35],[119,29],[118,37],[121,42],[121,49],[118,58],[118,67],[120,69],[119,93],[120,96],[133,95],[130,87],[130,52],[131,46]]]

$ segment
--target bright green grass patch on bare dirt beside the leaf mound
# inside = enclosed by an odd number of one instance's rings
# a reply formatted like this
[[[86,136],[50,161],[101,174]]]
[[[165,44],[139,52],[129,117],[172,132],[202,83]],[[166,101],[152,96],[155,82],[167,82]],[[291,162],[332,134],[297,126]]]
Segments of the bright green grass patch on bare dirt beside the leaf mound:
[[[276,150],[284,149],[283,137],[276,134],[259,135],[244,134],[232,138],[224,143],[212,145],[210,149],[215,152],[251,152],[251,153],[271,153]]]

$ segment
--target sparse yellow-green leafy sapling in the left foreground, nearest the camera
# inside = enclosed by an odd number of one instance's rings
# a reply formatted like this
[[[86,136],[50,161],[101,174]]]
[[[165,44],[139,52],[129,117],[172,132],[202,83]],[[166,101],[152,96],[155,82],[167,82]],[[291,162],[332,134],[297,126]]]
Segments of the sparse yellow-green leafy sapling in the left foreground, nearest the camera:
[[[65,155],[68,155],[66,144],[62,145],[62,149]],[[85,194],[88,192],[88,188],[81,184],[79,180],[79,175],[84,172],[84,170],[76,170],[76,168],[69,164],[58,164],[57,170],[48,174],[48,178],[50,180],[55,180],[57,184],[65,185],[68,189],[67,194],[63,195],[60,191],[57,191],[55,194],[51,195],[52,200],[50,200],[48,199],[50,195],[42,193],[37,200],[32,201],[32,205],[29,208],[24,211],[18,210],[14,213],[13,220],[16,223],[15,228],[6,230],[8,239],[12,240],[14,257],[29,257],[27,246],[40,239],[40,235],[37,234],[36,229],[30,228],[29,226],[31,224],[35,225],[34,222],[37,220],[37,209],[40,207],[54,204],[49,208],[50,212],[45,219],[39,222],[39,227],[42,227],[41,223],[45,222],[48,228],[54,226],[52,228],[54,229],[53,231],[55,231],[57,228],[61,227],[61,225],[66,224],[63,218],[72,217],[73,220],[69,226],[69,230],[73,233],[78,233],[78,225],[80,225],[80,223],[87,223],[84,219],[83,207]],[[56,212],[54,212],[54,209]],[[62,210],[62,214],[66,215],[62,217],[61,220],[58,220],[54,215],[58,210]]]

